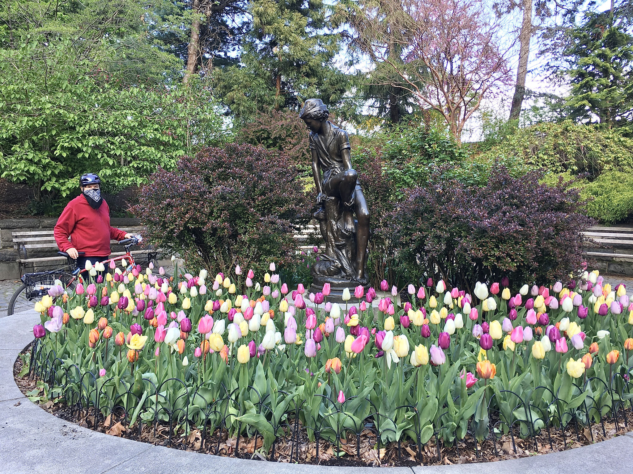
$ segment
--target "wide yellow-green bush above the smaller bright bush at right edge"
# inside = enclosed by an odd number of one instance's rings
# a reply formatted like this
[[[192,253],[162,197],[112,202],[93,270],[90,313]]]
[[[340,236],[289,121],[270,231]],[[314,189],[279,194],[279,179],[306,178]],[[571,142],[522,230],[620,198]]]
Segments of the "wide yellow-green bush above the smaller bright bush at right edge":
[[[481,159],[520,159],[526,166],[551,173],[633,171],[633,140],[613,130],[599,130],[570,120],[520,128]]]

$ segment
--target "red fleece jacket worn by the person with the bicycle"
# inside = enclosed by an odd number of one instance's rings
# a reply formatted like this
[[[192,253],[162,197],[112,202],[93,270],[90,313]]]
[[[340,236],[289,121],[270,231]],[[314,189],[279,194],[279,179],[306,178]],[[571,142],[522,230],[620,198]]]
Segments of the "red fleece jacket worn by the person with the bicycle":
[[[86,257],[108,257],[110,239],[123,240],[125,232],[110,226],[110,207],[105,200],[99,209],[92,209],[84,195],[79,195],[61,213],[54,236],[61,252],[75,247]]]

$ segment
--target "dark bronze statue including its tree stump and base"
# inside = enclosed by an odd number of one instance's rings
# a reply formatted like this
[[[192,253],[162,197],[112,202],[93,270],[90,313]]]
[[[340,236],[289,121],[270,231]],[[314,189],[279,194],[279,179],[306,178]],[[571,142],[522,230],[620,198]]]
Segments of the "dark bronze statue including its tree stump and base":
[[[348,134],[328,120],[321,99],[306,100],[299,118],[310,128],[312,173],[316,186],[315,213],[325,240],[325,252],[313,265],[313,287],[367,286],[369,210],[350,157]],[[322,175],[323,173],[323,175]],[[354,220],[354,214],[356,219]]]

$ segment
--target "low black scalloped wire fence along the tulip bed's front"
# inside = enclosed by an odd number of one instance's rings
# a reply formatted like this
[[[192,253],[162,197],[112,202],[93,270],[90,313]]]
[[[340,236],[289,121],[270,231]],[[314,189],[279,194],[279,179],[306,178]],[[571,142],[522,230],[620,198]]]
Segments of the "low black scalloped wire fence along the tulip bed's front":
[[[422,443],[424,427],[420,422],[420,413],[414,406],[398,406],[395,413],[399,418],[394,418],[379,413],[368,398],[358,401],[356,397],[350,397],[341,404],[325,395],[316,394],[315,398],[320,398],[320,403],[317,410],[319,416],[315,418],[311,415],[311,403],[306,399],[292,398],[285,408],[282,407],[284,410],[279,411],[268,394],[262,398],[255,387],[249,386],[245,392],[251,394],[247,410],[238,388],[230,390],[223,385],[212,386],[207,383],[194,391],[180,379],[167,379],[158,386],[152,380],[142,379],[142,387],[134,387],[124,380],[96,377],[92,372],[81,374],[77,365],[65,367],[54,351],[44,353],[37,339],[31,348],[28,377],[46,382],[49,391],[65,400],[67,410],[63,417],[66,419],[90,420],[93,429],[99,429],[108,418],[108,426],[113,424],[113,420],[118,420],[129,434],[136,432],[139,439],[143,425],[152,432],[154,439],[158,430],[166,430],[163,444],[173,447],[182,444],[182,437],[187,439],[193,430],[199,430],[200,446],[208,441],[206,449],[211,454],[258,457],[268,461],[279,460],[276,447],[280,441],[290,444],[289,462],[300,462],[300,446],[306,442],[315,443],[316,463],[320,461],[323,442],[325,445],[330,444],[335,453],[355,454],[361,459],[363,437],[375,439],[373,446],[379,453],[389,445],[396,450],[398,461],[410,459],[424,463],[426,455],[427,464],[432,459],[441,463],[442,452],[446,455],[450,449],[454,449],[459,456],[460,443],[461,449],[474,451],[477,459],[482,458],[486,449],[498,456],[499,444],[508,437],[515,454],[517,439],[522,439],[526,446],[531,445],[536,453],[539,444],[548,444],[553,450],[555,435],[563,439],[564,448],[573,438],[581,441],[581,433],[586,436],[585,428],[589,428],[591,442],[594,442],[592,425],[599,427],[605,437],[605,422],[613,422],[616,432],[627,430],[628,417],[633,416],[633,382],[626,375],[617,373],[611,377],[610,384],[598,377],[586,379],[581,385],[575,384],[579,393],[587,394],[582,403],[573,408],[563,408],[567,403],[548,387],[536,387],[526,399],[511,391],[496,392],[484,400],[487,423],[486,418],[477,419],[475,413],[467,420],[463,437],[458,437],[458,426],[450,422],[448,408],[441,407],[433,424],[432,435]],[[630,370],[629,367],[627,374]],[[283,391],[280,393],[287,394]],[[256,399],[255,403],[253,398]],[[354,416],[355,411],[346,411],[346,406],[359,403],[368,408],[368,415],[363,420]],[[238,418],[246,413],[256,415],[260,422],[263,417],[265,424],[257,426],[239,421]],[[396,422],[402,419],[400,415],[404,415],[409,422],[398,433]],[[134,425],[137,427],[134,428]],[[263,450],[258,451],[258,446],[263,444],[266,433],[273,437],[273,442],[268,452],[263,453]],[[251,440],[252,455],[241,449],[241,437]],[[223,448],[227,446],[223,442],[226,443],[229,438],[235,439],[235,446],[230,453]],[[402,447],[405,443],[406,451],[411,456],[403,458]],[[415,451],[411,447],[415,447]]]

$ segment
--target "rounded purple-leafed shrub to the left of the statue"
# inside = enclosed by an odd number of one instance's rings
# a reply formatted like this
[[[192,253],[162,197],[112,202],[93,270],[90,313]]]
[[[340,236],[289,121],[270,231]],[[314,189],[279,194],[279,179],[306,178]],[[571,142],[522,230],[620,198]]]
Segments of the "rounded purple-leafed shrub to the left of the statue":
[[[228,272],[296,261],[294,230],[310,214],[298,169],[275,150],[208,147],[149,176],[132,212],[147,236],[188,266]]]

